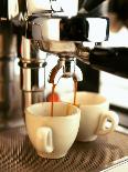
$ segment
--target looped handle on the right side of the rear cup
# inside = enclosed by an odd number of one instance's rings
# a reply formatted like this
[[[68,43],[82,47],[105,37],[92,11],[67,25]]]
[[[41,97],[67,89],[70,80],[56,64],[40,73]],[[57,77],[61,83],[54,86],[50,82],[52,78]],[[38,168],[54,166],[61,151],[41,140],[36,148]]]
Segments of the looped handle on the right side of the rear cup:
[[[109,123],[108,123],[109,122]],[[107,134],[116,129],[119,123],[119,117],[114,111],[106,111],[99,118],[99,123],[96,130],[96,134],[103,135]],[[107,127],[107,124],[109,124]]]

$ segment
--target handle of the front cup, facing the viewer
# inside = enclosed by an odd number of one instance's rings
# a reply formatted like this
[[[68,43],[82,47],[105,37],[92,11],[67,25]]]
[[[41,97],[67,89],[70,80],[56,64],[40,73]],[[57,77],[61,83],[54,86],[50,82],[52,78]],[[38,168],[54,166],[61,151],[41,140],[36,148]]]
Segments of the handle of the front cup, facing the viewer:
[[[53,135],[51,128],[41,127],[36,130],[36,146],[41,152],[53,152]]]

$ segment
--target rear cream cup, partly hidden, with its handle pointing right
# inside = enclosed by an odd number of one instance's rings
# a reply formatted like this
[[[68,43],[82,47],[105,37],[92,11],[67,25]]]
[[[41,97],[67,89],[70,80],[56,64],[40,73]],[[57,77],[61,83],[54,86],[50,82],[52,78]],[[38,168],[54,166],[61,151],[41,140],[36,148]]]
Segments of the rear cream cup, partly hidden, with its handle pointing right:
[[[73,100],[74,93],[61,97],[63,102],[73,103]],[[76,92],[76,105],[81,109],[78,141],[94,141],[97,135],[108,134],[118,125],[118,114],[109,110],[109,102],[99,93]]]

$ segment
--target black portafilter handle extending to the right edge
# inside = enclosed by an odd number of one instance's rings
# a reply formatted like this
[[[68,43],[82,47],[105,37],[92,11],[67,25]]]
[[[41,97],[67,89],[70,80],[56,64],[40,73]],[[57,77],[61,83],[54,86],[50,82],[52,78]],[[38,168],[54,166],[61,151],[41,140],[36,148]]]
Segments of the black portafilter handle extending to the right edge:
[[[128,78],[128,48],[94,48],[89,62],[97,70]]]

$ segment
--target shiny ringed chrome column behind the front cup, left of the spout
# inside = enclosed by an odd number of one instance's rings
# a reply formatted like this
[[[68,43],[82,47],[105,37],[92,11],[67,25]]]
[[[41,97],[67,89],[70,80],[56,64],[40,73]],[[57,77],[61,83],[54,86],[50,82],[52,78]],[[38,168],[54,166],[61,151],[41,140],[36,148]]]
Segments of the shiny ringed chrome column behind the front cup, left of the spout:
[[[33,103],[44,101],[45,65],[47,53],[40,50],[35,40],[22,37],[20,58],[20,88],[22,111]]]

